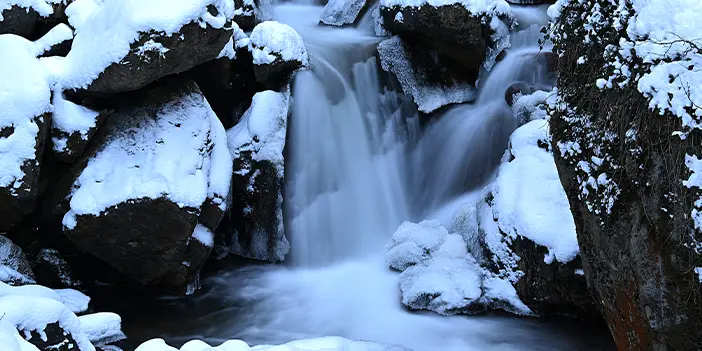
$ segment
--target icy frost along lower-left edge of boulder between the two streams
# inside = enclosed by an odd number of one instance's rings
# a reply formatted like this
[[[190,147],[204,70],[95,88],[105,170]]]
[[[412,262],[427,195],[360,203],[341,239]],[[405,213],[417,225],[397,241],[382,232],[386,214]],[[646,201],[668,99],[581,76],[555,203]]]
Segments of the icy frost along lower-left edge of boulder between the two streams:
[[[383,40],[378,44],[378,53],[382,68],[395,74],[402,91],[414,98],[422,112],[429,113],[448,104],[471,101],[475,97],[473,83],[454,82],[451,86],[430,83],[426,74],[412,65],[408,49],[400,37]]]

